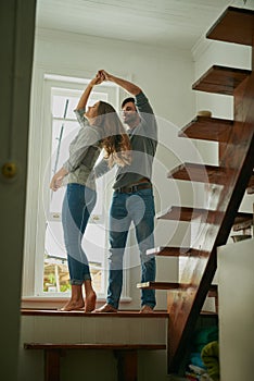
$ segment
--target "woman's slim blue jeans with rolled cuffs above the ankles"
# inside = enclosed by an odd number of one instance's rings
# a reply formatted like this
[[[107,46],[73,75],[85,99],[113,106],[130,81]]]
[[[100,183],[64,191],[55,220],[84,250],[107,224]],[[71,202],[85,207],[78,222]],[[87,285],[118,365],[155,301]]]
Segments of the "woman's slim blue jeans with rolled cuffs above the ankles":
[[[96,190],[80,184],[67,184],[62,207],[62,224],[72,285],[81,285],[84,281],[91,279],[81,241],[96,201]]]

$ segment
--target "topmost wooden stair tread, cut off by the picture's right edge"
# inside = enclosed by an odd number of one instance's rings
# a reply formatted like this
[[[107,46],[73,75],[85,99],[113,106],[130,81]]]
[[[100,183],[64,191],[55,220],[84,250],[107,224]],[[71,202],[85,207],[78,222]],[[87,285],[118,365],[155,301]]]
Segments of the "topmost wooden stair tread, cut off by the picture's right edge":
[[[254,11],[229,7],[209,28],[206,38],[241,45],[253,45]]]

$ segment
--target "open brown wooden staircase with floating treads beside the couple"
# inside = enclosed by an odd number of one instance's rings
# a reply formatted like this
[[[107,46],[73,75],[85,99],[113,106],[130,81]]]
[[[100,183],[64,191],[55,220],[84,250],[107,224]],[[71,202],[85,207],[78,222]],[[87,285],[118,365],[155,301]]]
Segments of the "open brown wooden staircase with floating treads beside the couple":
[[[218,142],[219,165],[182,163],[168,174],[176,181],[207,184],[213,208],[173,206],[158,218],[190,223],[200,231],[192,247],[158,247],[148,255],[179,256],[179,283],[152,282],[139,287],[168,290],[168,372],[178,371],[193,327],[212,286],[216,248],[227,243],[232,226],[250,223],[252,214],[238,212],[244,193],[254,188],[254,11],[229,7],[206,35],[207,38],[252,47],[252,70],[212,66],[192,86],[193,90],[233,97],[232,121],[198,116],[179,136]]]

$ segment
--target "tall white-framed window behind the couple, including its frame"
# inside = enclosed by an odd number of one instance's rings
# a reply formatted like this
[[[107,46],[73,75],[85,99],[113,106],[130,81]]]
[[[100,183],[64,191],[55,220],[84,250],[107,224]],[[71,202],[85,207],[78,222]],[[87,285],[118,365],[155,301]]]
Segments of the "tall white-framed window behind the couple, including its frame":
[[[34,109],[31,105],[34,115],[31,114],[29,142],[23,273],[23,294],[25,296],[64,296],[69,291],[61,222],[65,188],[53,193],[49,188],[49,183],[53,173],[66,160],[68,145],[79,128],[73,110],[88,81],[46,75],[43,78],[43,99],[37,101],[37,110],[40,110],[40,113],[37,113],[36,106]],[[99,99],[109,101],[115,109],[118,109],[118,87],[110,83],[96,87],[89,103],[92,105]],[[38,114],[41,114],[39,121]],[[98,201],[82,242],[85,251],[88,253],[93,285],[99,297],[104,297],[106,287],[107,276],[105,276],[104,270],[107,257],[105,226],[107,216],[104,216],[104,211],[106,199],[111,198],[113,177],[114,173],[111,173],[97,182]],[[31,276],[33,267],[35,273]],[[124,286],[123,296],[126,296],[126,286]]]

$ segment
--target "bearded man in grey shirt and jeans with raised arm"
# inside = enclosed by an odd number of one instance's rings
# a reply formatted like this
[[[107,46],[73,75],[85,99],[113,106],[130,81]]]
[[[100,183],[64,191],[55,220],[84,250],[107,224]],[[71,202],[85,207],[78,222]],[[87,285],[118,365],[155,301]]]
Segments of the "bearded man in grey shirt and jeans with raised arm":
[[[157,125],[153,110],[141,88],[109,74],[100,74],[128,91],[132,97],[122,103],[123,121],[128,125],[131,144],[131,164],[118,168],[113,185],[110,210],[110,270],[106,304],[96,312],[116,312],[123,286],[123,257],[132,222],[141,260],[141,282],[155,280],[155,258],[147,250],[154,247],[154,198],[151,183],[152,164],[157,146]],[[96,174],[104,174],[106,161],[96,167]],[[153,312],[155,291],[141,291],[141,314]]]

